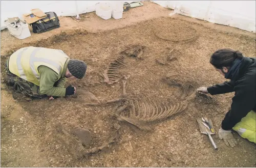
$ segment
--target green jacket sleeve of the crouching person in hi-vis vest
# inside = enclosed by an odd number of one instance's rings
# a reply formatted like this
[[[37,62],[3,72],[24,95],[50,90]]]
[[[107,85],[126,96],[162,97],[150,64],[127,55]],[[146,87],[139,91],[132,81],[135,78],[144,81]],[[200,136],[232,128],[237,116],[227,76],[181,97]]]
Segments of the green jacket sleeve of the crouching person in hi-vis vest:
[[[57,83],[57,87],[54,87],[54,83],[58,79],[58,74],[46,66],[40,66],[38,71],[40,74],[39,87],[41,94],[48,96],[65,96],[66,88],[63,87],[63,85],[65,85],[64,79],[60,79],[61,81]]]

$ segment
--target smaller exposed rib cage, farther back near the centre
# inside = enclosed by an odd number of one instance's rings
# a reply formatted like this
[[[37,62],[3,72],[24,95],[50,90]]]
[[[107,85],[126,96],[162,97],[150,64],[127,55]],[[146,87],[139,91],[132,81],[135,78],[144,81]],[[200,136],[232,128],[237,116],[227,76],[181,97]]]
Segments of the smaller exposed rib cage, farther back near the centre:
[[[122,77],[119,73],[120,69],[125,67],[126,65],[124,64],[124,56],[120,55],[118,59],[110,63],[108,69],[105,69],[104,72],[102,72],[102,77],[104,78],[104,82],[110,85],[115,82],[118,82]]]

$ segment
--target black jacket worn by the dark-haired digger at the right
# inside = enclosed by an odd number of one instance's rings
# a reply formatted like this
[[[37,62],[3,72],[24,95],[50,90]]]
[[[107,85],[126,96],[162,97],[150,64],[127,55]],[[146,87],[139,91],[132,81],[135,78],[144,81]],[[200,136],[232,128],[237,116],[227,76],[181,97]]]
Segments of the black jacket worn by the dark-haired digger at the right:
[[[245,57],[239,73],[230,81],[207,88],[209,94],[234,92],[231,109],[227,112],[221,127],[232,129],[251,110],[256,111],[256,60]]]

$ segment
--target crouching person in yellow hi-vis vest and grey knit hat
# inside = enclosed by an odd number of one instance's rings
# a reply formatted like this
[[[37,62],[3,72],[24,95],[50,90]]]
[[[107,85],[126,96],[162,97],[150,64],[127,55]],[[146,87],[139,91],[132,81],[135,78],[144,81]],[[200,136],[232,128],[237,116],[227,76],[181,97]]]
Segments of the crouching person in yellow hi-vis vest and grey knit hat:
[[[62,50],[42,47],[25,47],[15,51],[7,60],[7,85],[32,98],[73,95],[74,86],[65,88],[66,78],[81,79],[87,70],[86,63],[72,60]]]

